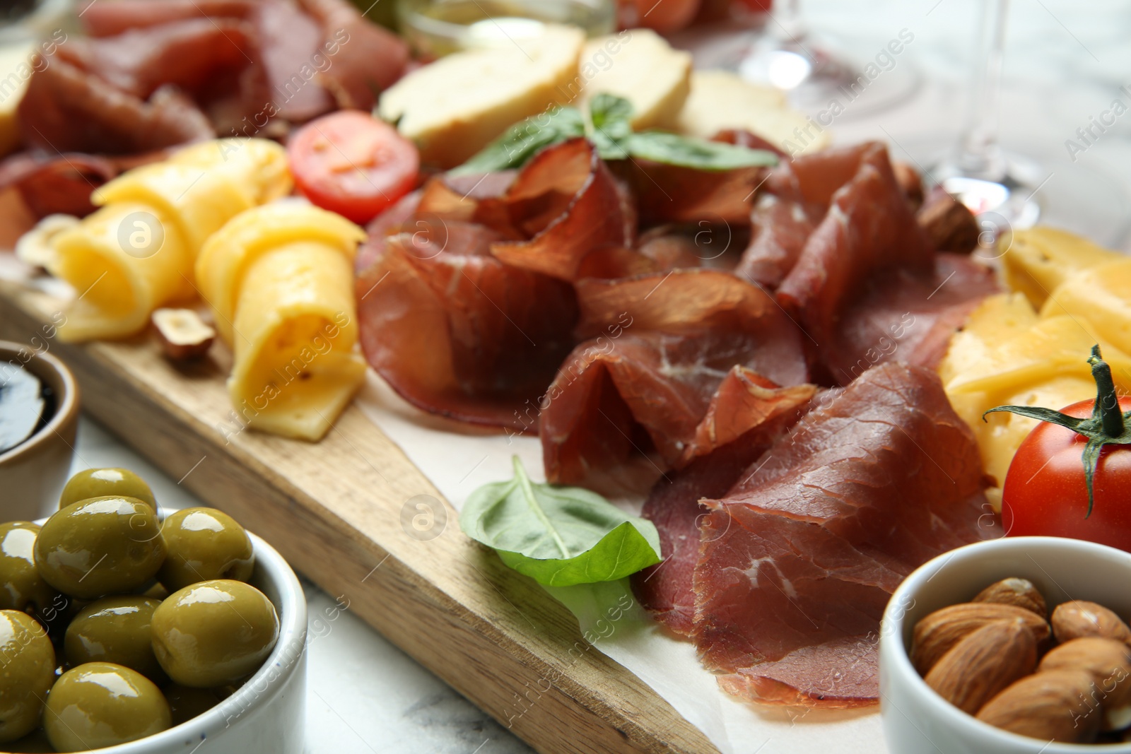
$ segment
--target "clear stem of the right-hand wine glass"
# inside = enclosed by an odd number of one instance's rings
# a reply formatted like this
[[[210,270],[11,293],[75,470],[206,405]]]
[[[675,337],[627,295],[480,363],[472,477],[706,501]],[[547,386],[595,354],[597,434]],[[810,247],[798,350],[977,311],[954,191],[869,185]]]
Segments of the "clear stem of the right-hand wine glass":
[[[969,118],[958,164],[968,175],[1000,181],[1005,166],[998,144],[998,113],[1009,0],[982,0],[982,33],[970,87]]]

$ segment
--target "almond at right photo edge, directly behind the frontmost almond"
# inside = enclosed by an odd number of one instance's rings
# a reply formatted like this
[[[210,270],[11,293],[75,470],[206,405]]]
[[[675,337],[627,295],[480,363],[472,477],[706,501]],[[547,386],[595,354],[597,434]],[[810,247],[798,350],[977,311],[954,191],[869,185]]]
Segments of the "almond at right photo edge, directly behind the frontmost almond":
[[[1073,639],[1041,660],[1037,673],[1048,670],[1087,670],[1104,708],[1104,729],[1131,725],[1131,647],[1103,636]]]

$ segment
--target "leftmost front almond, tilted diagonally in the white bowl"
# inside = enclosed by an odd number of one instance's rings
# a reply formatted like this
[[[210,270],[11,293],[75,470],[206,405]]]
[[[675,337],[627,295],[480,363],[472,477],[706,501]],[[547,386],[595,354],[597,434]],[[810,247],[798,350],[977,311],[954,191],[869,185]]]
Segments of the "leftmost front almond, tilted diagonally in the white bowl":
[[[974,714],[1036,667],[1037,642],[1026,622],[993,621],[955,644],[924,681],[948,702]]]

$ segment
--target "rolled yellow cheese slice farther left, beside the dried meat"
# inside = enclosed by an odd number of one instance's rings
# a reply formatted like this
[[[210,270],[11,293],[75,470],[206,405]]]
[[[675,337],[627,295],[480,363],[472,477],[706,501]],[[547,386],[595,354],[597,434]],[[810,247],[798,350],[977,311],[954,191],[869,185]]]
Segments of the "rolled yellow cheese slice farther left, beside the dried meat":
[[[197,297],[204,242],[251,207],[290,193],[286,153],[265,139],[219,139],[133,168],[92,193],[102,208],[53,236],[50,271],[77,296],[66,341],[132,335],[154,310]]]

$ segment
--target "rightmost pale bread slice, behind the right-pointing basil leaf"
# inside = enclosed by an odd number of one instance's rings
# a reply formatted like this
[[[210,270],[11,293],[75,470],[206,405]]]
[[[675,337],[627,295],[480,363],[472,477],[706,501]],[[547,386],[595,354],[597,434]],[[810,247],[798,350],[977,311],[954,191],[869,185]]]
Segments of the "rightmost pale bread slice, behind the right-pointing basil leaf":
[[[702,139],[725,129],[744,129],[788,155],[817,151],[831,141],[827,128],[789,107],[778,89],[720,70],[691,73],[691,94],[677,125],[683,133]]]

